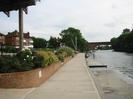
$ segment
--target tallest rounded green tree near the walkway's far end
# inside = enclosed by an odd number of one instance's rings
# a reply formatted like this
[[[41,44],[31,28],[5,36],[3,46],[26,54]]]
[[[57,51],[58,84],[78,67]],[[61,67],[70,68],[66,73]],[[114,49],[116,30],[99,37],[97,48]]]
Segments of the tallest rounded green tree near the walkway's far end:
[[[83,38],[79,29],[68,28],[60,33],[62,43],[75,50],[85,51],[88,48],[87,41]]]

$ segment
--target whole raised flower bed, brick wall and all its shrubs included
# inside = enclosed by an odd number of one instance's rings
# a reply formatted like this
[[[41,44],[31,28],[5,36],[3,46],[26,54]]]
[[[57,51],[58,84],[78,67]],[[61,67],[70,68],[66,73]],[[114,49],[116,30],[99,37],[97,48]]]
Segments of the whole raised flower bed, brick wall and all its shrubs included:
[[[14,56],[0,56],[0,88],[37,87],[72,56],[73,50],[68,47],[60,48],[56,54],[24,50]]]

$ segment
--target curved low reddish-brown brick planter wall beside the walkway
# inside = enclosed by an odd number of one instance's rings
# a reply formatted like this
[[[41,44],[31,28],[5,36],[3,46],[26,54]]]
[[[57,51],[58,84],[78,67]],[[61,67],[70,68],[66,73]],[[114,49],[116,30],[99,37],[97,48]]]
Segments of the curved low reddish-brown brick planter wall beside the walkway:
[[[63,64],[58,62],[48,67],[38,68],[31,71],[2,73],[0,74],[0,88],[38,87],[70,59],[70,57],[66,58]]]

